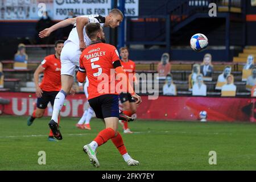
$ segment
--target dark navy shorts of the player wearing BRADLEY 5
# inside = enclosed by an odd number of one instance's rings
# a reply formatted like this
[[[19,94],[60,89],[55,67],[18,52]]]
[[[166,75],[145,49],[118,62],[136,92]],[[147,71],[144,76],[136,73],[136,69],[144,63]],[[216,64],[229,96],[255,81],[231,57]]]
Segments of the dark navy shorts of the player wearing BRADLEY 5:
[[[105,94],[88,101],[97,118],[119,117],[118,95]]]

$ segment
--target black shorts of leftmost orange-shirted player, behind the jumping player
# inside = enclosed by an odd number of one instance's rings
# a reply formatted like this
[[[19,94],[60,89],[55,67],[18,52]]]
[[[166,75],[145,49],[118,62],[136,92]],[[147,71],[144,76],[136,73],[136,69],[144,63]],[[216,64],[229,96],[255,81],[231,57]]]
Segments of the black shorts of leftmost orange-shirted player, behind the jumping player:
[[[54,91],[54,92],[43,91],[42,97],[38,98],[38,101],[36,102],[36,107],[38,107],[39,109],[46,109],[49,102],[51,102],[51,105],[53,106],[55,97],[58,93],[59,91]]]

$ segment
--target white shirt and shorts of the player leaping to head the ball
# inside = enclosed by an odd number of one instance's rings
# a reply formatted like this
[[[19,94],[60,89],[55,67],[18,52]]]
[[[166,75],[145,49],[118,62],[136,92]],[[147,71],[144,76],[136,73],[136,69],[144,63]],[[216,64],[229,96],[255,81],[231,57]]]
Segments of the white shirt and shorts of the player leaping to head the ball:
[[[101,15],[83,15],[89,20],[89,23],[100,23],[104,26],[105,17]],[[86,35],[85,27],[83,30],[84,42],[86,46],[90,45],[90,39]],[[64,42],[64,47],[60,54],[61,61],[61,75],[74,76],[76,66],[79,67],[79,58],[81,55],[79,47],[79,36],[76,30],[76,23],[74,24],[71,32],[69,33],[68,40]]]

